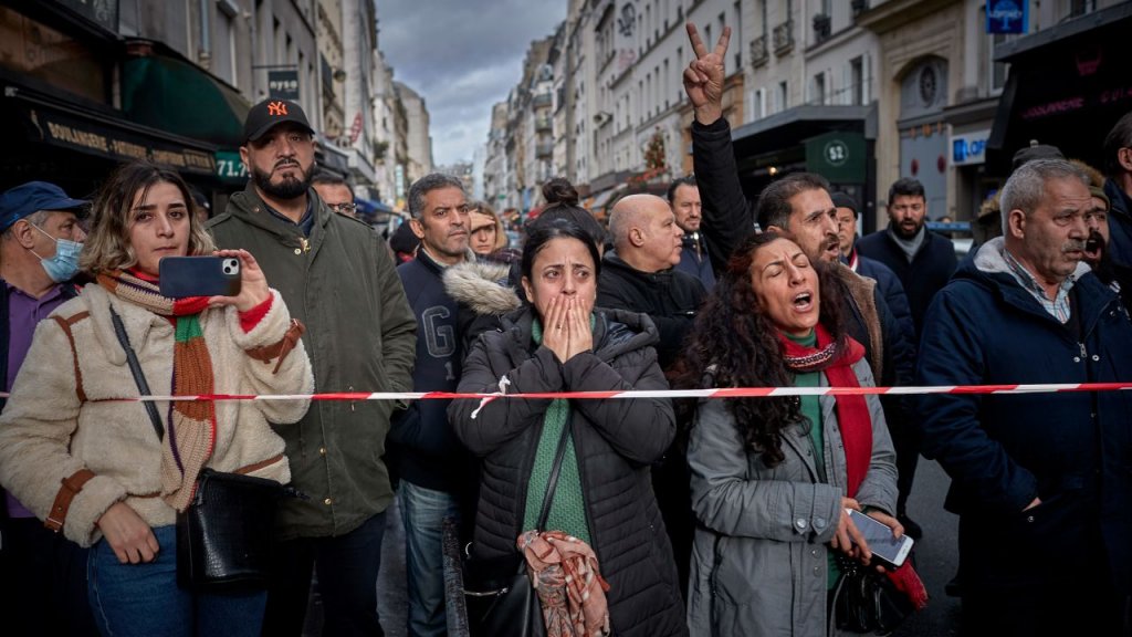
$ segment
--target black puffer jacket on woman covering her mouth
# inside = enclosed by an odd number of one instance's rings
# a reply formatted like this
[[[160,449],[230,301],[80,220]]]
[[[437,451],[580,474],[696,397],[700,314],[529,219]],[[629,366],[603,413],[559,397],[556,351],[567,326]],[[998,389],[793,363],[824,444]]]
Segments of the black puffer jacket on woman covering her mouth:
[[[480,337],[464,360],[461,392],[664,390],[657,365],[657,328],[644,315],[595,309],[593,353],[565,364],[531,338],[523,307],[503,330]],[[448,418],[456,436],[482,459],[474,557],[514,554],[526,485],[550,400],[455,400]],[[649,466],[676,434],[667,399],[574,400],[573,438],[586,518],[618,636],[687,635],[672,549],[652,492]]]

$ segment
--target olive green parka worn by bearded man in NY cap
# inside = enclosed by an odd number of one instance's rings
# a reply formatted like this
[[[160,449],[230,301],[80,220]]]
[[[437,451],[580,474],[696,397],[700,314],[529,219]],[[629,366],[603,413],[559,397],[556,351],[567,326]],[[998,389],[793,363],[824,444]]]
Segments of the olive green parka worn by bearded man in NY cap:
[[[316,392],[411,391],[417,320],[393,257],[367,224],[314,201],[309,237],[276,219],[249,182],[209,221],[216,245],[249,250],[306,324],[302,340]],[[298,425],[277,427],[286,441],[294,486],[309,500],[289,500],[281,540],[349,533],[393,501],[383,456],[389,415],[385,400],[315,401]]]

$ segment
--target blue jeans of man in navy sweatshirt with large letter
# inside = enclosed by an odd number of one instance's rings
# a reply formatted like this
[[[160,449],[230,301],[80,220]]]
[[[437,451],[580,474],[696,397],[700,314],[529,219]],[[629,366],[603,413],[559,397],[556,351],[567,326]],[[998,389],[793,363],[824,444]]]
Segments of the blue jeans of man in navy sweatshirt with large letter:
[[[401,481],[397,502],[405,523],[405,568],[409,571],[409,635],[435,637],[447,632],[444,609],[444,519],[460,519],[456,499]]]

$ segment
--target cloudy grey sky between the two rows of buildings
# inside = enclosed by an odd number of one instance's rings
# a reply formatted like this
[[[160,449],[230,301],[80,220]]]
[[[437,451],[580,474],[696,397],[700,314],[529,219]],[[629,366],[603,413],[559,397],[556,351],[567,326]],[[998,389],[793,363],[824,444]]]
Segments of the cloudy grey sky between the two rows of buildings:
[[[531,41],[552,35],[567,0],[379,0],[378,46],[393,78],[424,97],[438,165],[471,161],[491,104],[518,83]]]

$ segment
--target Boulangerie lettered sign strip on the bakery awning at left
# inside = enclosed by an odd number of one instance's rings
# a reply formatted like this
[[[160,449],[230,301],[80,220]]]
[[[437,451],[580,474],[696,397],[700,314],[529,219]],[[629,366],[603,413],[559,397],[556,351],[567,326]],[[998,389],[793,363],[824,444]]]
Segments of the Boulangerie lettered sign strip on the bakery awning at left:
[[[127,130],[113,130],[62,113],[31,109],[28,116],[49,144],[114,161],[144,160],[179,172],[213,175],[216,170],[212,154],[203,151],[162,143]]]

